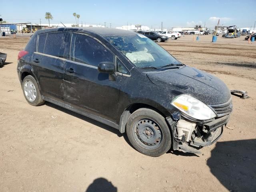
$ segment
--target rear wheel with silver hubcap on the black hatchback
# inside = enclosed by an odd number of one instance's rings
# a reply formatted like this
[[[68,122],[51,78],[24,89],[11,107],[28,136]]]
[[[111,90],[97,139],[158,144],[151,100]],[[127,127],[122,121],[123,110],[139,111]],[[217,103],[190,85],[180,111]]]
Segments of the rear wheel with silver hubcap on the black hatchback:
[[[22,81],[22,90],[27,102],[33,106],[44,104],[38,84],[33,76],[28,75]]]

